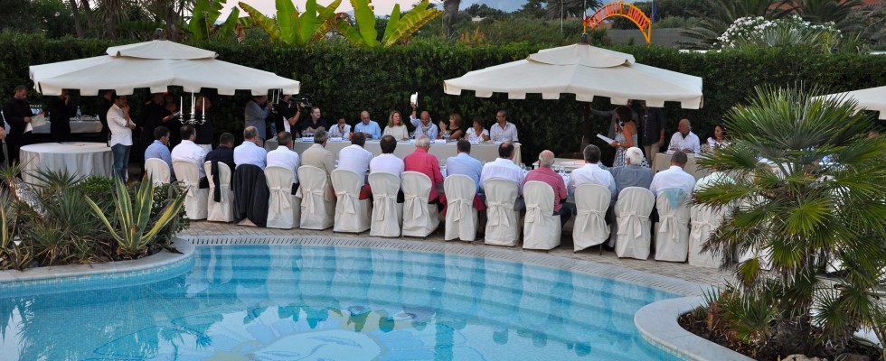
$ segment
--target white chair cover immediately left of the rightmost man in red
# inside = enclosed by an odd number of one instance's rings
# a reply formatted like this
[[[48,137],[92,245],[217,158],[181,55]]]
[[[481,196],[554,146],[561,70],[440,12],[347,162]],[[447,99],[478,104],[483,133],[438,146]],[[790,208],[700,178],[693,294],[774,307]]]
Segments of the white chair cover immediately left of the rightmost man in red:
[[[520,211],[514,208],[517,183],[493,178],[483,183],[486,194],[486,245],[513,247],[520,243]]]

